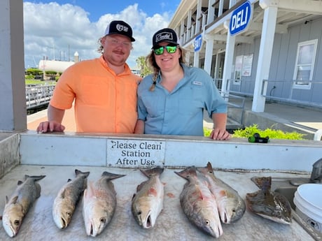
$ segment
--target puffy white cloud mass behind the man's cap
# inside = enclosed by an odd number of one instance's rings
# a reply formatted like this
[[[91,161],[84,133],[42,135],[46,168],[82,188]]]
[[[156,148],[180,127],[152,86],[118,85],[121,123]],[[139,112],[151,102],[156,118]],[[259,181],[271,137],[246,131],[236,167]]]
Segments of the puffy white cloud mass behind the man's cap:
[[[118,14],[102,15],[97,22],[90,22],[88,15],[71,4],[24,2],[25,67],[38,65],[44,56],[73,60],[76,51],[81,60],[99,57],[97,40],[111,20],[124,20],[133,29],[136,41],[127,64],[134,67],[137,57],[150,52],[155,31],[167,27],[171,17],[169,13],[148,16],[137,3]]]

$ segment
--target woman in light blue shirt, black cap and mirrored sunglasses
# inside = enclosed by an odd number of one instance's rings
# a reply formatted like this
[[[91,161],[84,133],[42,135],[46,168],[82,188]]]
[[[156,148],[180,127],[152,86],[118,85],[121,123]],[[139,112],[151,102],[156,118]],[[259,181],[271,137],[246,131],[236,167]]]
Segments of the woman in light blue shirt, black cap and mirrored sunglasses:
[[[201,68],[184,64],[173,29],[160,29],[153,35],[148,64],[154,73],[138,88],[138,115],[135,133],[204,136],[203,115],[213,119],[211,138],[227,140],[227,103],[214,81]]]

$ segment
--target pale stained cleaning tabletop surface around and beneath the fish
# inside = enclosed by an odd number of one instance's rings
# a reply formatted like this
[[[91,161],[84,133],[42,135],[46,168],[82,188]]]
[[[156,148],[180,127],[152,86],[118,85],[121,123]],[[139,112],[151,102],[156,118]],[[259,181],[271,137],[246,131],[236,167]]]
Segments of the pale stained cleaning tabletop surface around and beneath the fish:
[[[205,163],[206,165],[207,163]],[[146,230],[140,228],[131,212],[131,200],[136,192],[137,185],[147,180],[137,169],[130,168],[104,168],[90,166],[29,166],[20,165],[10,171],[0,180],[0,212],[5,205],[5,196],[13,193],[18,180],[23,180],[27,175],[46,175],[41,184],[41,197],[36,200],[25,217],[22,227],[14,240],[88,240],[85,233],[81,205],[78,205],[73,214],[71,224],[65,230],[59,230],[52,220],[52,203],[57,192],[69,179],[74,178],[74,170],[90,171],[88,180],[97,180],[107,170],[111,173],[125,174],[117,180],[113,180],[116,188],[118,206],[116,214],[109,226],[98,235],[95,240],[214,240],[211,236],[202,233],[190,224],[181,210],[179,195],[186,180],[174,174],[174,170],[165,169],[161,180],[165,182],[164,209],[160,213],[154,228]],[[216,171],[217,177],[230,184],[236,189],[242,198],[246,193],[257,191],[258,188],[251,182],[253,176],[272,177],[307,177],[307,175],[296,175],[286,173],[236,173]],[[0,226],[0,240],[13,240]],[[263,219],[246,210],[244,216],[236,223],[223,225],[223,235],[218,240],[313,240],[304,229],[293,220],[290,226],[278,224]]]

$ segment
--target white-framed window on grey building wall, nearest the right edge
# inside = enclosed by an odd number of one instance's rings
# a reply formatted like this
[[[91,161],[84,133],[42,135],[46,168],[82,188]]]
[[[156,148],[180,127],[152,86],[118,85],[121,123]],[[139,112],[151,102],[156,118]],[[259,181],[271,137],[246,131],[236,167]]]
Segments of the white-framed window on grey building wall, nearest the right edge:
[[[294,89],[311,89],[318,40],[298,43],[293,80]]]

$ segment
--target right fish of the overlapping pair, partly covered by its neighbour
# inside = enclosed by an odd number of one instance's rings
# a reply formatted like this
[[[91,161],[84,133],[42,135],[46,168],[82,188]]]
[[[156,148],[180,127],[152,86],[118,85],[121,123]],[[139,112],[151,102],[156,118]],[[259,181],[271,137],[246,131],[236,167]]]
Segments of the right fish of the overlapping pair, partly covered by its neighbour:
[[[238,192],[214,175],[214,170],[210,162],[207,163],[207,167],[197,168],[197,170],[209,182],[209,189],[216,198],[221,221],[224,224],[233,224],[241,219],[245,213],[246,205]]]

